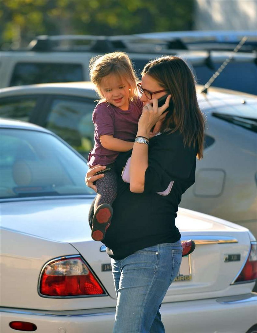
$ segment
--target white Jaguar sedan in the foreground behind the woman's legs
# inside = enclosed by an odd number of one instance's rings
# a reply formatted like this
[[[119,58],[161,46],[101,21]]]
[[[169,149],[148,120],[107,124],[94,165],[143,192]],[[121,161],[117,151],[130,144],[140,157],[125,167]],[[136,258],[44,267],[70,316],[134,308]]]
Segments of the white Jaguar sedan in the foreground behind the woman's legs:
[[[86,160],[38,126],[0,120],[1,332],[112,332],[116,293],[91,238]],[[256,240],[244,227],[180,208],[196,248],[161,306],[166,332],[254,333]]]

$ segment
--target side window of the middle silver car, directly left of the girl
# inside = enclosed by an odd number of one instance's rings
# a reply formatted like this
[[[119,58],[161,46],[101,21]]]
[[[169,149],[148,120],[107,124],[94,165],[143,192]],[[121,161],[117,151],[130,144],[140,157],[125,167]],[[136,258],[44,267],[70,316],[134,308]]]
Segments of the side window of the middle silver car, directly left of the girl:
[[[84,157],[94,146],[94,100],[53,100],[44,127],[59,135]]]

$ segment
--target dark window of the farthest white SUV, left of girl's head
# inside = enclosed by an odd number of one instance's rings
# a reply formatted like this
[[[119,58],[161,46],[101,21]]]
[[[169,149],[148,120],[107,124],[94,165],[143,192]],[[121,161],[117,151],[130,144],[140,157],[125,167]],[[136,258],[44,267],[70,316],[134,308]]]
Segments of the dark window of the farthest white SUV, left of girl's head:
[[[74,81],[84,81],[80,64],[18,63],[14,67],[10,86]]]

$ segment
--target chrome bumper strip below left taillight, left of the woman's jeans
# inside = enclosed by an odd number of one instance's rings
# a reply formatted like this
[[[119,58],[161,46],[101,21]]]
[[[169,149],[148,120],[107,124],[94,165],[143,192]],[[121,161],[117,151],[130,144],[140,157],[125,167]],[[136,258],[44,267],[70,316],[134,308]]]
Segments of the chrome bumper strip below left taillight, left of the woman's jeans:
[[[51,310],[26,310],[0,307],[0,312],[16,313],[23,315],[33,316],[48,316],[48,317],[89,317],[89,316],[102,316],[102,315],[115,315],[116,308],[100,308],[100,309],[88,309],[88,310],[63,310],[63,311],[51,311]]]

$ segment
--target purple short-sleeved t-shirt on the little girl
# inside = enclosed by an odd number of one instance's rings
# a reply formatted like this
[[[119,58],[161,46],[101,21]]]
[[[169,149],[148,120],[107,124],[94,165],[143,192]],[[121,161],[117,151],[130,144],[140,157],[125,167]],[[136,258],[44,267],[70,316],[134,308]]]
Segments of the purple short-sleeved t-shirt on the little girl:
[[[90,167],[113,163],[119,155],[119,152],[106,149],[101,145],[100,137],[102,135],[112,135],[116,139],[134,141],[142,108],[143,104],[139,98],[136,102],[129,103],[127,111],[107,102],[98,103],[92,117],[95,124],[95,145],[88,156]]]

